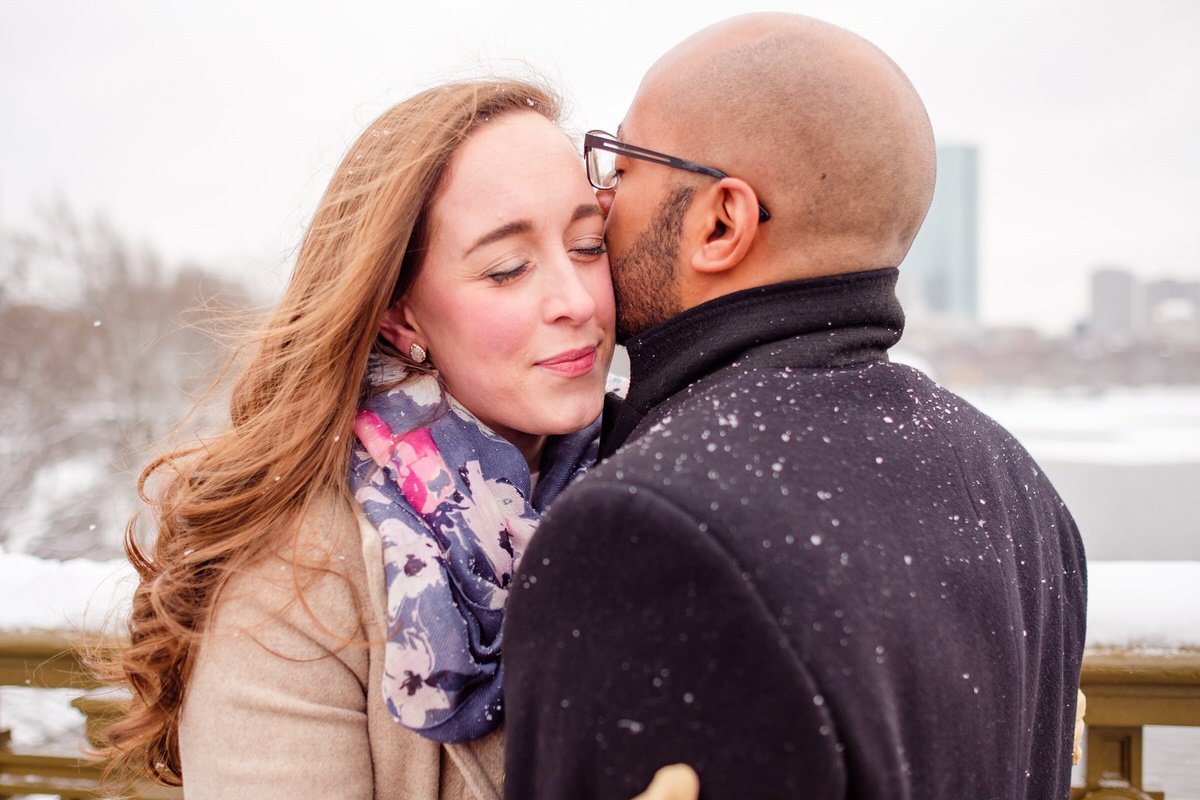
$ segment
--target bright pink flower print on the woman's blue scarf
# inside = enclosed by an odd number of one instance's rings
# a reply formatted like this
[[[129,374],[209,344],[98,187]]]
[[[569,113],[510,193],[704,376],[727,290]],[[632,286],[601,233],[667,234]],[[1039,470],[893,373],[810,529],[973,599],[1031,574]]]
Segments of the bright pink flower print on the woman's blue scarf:
[[[428,428],[397,437],[378,414],[364,410],[354,417],[354,433],[374,463],[396,473],[404,499],[418,513],[431,513],[454,498],[454,475]]]

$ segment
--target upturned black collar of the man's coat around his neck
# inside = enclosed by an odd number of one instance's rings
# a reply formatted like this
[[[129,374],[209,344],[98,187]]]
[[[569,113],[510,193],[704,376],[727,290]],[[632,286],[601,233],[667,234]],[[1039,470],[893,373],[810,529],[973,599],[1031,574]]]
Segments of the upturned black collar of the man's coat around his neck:
[[[887,267],[745,289],[630,338],[629,397],[605,405],[601,456],[652,408],[734,360],[791,367],[886,360],[904,330],[898,276]]]

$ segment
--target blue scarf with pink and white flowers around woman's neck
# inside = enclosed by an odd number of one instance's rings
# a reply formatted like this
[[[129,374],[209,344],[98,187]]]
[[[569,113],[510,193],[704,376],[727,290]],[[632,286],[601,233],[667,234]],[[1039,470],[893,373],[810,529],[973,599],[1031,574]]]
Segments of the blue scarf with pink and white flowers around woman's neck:
[[[541,511],[596,458],[600,422],[550,437],[540,479],[436,378],[359,410],[350,489],[383,537],[383,693],[403,726],[467,741],[503,720],[504,604]]]

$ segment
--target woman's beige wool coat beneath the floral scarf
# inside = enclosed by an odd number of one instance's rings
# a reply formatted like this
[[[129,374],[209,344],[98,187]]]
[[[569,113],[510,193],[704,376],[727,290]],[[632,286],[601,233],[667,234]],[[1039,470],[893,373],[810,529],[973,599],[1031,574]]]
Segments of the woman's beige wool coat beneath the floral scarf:
[[[379,534],[344,501],[229,582],[185,693],[187,800],[499,800],[503,729],[439,745],[384,705],[385,596]]]

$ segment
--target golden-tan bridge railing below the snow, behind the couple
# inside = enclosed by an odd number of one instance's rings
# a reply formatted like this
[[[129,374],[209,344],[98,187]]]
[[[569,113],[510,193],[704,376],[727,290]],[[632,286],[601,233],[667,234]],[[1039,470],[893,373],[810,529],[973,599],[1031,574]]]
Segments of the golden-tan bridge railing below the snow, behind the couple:
[[[1168,800],[1142,787],[1142,726],[1200,727],[1200,650],[1090,650],[1080,682],[1087,694],[1086,786],[1074,787],[1072,800]],[[106,715],[119,703],[83,693],[98,684],[62,633],[0,632],[0,686],[80,690],[72,704],[84,712],[94,742]],[[104,764],[85,753],[85,742],[78,744],[77,752],[67,754],[20,752],[4,729],[0,708],[0,799],[109,796],[100,788]],[[179,800],[182,793],[139,783],[133,796]]]

